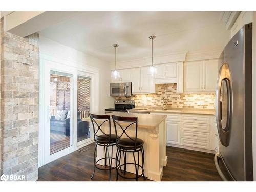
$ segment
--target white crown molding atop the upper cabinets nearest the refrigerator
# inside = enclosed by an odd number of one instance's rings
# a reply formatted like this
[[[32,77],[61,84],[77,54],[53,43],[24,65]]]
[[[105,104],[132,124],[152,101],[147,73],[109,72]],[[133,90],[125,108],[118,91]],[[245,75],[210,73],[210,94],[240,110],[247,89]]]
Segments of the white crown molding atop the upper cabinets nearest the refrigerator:
[[[218,59],[222,49],[211,51],[190,51],[187,53],[185,61]]]

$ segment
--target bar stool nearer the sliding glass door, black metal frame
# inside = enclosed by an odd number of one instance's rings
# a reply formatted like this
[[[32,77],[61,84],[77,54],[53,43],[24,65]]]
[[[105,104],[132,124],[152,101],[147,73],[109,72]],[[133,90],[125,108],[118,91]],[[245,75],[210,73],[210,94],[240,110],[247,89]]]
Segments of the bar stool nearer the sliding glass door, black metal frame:
[[[94,177],[95,169],[98,168],[100,170],[109,170],[109,180],[111,181],[111,170],[116,168],[116,167],[112,167],[112,160],[116,160],[115,158],[113,158],[113,146],[116,145],[116,135],[111,134],[110,115],[95,115],[95,114],[89,114],[89,115],[93,124],[94,141],[95,141],[95,150],[93,154],[94,170],[93,170],[91,179],[93,179]],[[99,120],[100,124],[98,124],[96,120]],[[103,128],[102,125],[104,123],[109,123],[108,133],[106,133],[102,129]],[[94,124],[96,124],[96,126]],[[104,157],[96,161],[95,152],[98,145],[104,147]],[[110,146],[112,147],[111,157],[109,155],[109,150],[108,150],[108,147]],[[102,159],[104,159],[104,167],[106,167],[106,162],[107,160],[109,160],[109,168],[100,168],[97,166],[97,162]]]

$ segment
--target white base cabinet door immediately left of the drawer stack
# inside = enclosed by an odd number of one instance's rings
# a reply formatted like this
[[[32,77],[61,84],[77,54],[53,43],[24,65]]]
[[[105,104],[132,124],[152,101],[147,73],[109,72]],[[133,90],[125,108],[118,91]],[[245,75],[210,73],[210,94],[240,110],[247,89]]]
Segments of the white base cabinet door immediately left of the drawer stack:
[[[166,121],[167,129],[167,143],[169,144],[181,144],[181,129],[180,122]]]

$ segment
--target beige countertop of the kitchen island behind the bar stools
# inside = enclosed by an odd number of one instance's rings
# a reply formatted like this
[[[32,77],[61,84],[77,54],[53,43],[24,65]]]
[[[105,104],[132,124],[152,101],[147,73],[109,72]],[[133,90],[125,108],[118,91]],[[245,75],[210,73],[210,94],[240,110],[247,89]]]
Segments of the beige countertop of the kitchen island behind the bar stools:
[[[122,117],[138,117],[138,128],[153,129],[157,127],[167,116],[166,115],[149,115],[138,113],[109,113],[108,115],[117,115]]]

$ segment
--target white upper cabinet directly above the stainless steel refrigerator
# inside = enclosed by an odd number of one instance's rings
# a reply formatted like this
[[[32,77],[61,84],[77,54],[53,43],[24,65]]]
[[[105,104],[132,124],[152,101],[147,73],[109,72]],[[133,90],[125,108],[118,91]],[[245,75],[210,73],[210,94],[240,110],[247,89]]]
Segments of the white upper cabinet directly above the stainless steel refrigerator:
[[[242,11],[230,29],[230,37],[232,38],[245,24],[251,23],[252,17],[252,11]]]

